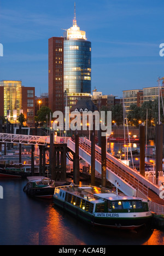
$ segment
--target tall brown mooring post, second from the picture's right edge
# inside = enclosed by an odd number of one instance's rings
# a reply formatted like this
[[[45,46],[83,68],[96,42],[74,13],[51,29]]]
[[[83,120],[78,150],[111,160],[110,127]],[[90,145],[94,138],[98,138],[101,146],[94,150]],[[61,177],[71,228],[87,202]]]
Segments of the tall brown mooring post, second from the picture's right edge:
[[[139,127],[140,161],[139,172],[145,177],[145,126]]]

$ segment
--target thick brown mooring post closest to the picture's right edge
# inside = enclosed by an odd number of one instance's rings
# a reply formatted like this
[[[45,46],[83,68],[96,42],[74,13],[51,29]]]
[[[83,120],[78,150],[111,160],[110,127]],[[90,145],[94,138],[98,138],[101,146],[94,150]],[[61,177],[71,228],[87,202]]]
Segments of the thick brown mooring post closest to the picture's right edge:
[[[162,153],[163,153],[163,125],[156,125],[155,127],[155,144],[156,144],[156,167],[155,167],[155,177],[156,184],[159,177],[159,172],[162,173]]]

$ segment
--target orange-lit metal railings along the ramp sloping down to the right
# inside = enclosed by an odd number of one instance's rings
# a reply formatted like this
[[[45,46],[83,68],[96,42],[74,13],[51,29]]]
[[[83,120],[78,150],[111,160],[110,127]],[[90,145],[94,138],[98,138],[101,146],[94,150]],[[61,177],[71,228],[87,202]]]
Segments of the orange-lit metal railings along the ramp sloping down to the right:
[[[67,146],[71,147],[71,149],[73,149],[73,145],[71,146],[72,143],[75,145],[75,142],[72,139],[69,139]],[[87,160],[87,162],[91,164],[91,142],[86,138],[80,139],[79,149],[82,149],[83,153],[85,152],[84,154],[82,154],[82,157],[81,155],[80,157],[83,158],[85,161]],[[101,148],[97,145],[95,146],[95,160],[101,164]],[[137,171],[134,171],[132,168],[123,164],[119,159],[116,159],[114,158],[114,156],[107,153],[106,160],[108,170],[107,179],[110,180],[110,182],[112,182],[113,184],[115,184],[115,177],[117,177],[120,181],[120,184],[124,185],[126,183],[126,185],[130,187],[131,190],[132,188],[136,190],[136,195],[137,190],[140,190],[144,195],[148,196],[149,188],[155,191],[155,193],[159,194],[159,186],[152,182],[149,182],[148,179],[143,177]],[[98,168],[96,171],[101,173],[101,168]],[[111,180],[111,174],[114,174],[113,181]]]

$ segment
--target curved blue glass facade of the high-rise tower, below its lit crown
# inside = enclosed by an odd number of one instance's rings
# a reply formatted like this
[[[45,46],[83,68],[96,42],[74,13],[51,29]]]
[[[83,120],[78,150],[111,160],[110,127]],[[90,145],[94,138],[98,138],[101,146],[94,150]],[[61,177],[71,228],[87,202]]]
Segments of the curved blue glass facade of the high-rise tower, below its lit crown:
[[[64,92],[91,94],[91,42],[64,41]]]

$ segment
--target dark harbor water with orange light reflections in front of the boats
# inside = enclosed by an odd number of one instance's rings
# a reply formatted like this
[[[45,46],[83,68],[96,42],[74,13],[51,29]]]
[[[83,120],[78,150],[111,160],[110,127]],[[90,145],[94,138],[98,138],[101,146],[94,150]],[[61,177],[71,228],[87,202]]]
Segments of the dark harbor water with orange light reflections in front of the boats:
[[[93,228],[54,207],[53,201],[31,199],[26,179],[0,179],[0,245],[163,245],[160,230],[121,231]]]

